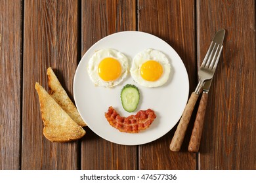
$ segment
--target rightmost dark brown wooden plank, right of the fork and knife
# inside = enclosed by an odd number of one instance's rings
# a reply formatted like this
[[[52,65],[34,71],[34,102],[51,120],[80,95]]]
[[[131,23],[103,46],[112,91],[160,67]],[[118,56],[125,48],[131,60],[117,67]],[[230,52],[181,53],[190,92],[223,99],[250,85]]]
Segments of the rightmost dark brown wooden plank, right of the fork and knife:
[[[256,169],[255,1],[197,1],[198,60],[226,29],[209,92],[200,169]]]

